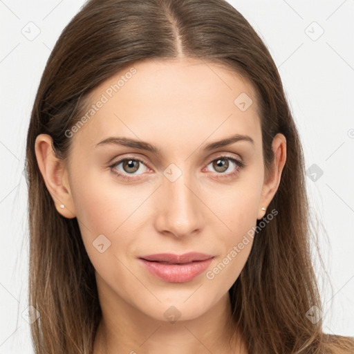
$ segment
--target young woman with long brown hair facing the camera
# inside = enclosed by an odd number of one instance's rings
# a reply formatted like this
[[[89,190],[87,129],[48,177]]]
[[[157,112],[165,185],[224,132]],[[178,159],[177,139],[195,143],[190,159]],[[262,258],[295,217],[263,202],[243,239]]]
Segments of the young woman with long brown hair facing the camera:
[[[322,331],[304,157],[222,0],[91,0],[27,140],[35,353],[353,353]]]

